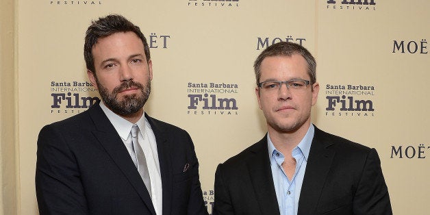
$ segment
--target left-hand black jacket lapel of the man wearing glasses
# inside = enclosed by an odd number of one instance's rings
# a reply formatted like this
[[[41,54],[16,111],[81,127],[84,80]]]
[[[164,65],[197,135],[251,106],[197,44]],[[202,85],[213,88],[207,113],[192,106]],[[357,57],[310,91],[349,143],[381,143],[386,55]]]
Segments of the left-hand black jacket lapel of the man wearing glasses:
[[[260,209],[263,214],[279,214],[272,170],[270,169],[266,136],[260,142],[253,145],[251,153],[254,156],[249,159],[247,165]]]

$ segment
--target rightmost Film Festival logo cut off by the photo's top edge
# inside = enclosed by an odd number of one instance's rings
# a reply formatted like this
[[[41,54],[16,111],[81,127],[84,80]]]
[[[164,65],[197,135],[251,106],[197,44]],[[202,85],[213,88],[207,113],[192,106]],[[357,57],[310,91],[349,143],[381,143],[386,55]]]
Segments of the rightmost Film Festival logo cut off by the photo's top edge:
[[[327,10],[376,10],[376,0],[327,0]]]

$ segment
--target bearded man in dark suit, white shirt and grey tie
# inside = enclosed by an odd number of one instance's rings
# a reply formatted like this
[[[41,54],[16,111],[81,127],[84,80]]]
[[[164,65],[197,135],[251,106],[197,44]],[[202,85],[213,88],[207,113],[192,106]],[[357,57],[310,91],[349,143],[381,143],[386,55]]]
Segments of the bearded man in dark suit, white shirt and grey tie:
[[[139,27],[93,21],[84,57],[102,102],[40,131],[40,214],[207,214],[190,136],[144,113],[153,71]]]

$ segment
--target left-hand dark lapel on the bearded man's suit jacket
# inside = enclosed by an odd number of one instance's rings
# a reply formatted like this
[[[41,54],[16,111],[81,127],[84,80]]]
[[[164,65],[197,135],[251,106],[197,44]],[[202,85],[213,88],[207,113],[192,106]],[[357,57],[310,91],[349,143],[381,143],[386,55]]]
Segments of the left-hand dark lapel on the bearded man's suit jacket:
[[[130,159],[130,155],[125,148],[123,140],[118,136],[114,126],[110,123],[108,117],[101,110],[99,104],[95,104],[92,108],[88,109],[88,114],[96,127],[92,133],[99,140],[105,151],[110,155],[112,160],[118,168],[123,172],[125,177],[129,180],[130,184],[138,192],[140,198],[147,205],[148,209],[155,215],[149,192],[144,186],[142,178],[138,170]]]

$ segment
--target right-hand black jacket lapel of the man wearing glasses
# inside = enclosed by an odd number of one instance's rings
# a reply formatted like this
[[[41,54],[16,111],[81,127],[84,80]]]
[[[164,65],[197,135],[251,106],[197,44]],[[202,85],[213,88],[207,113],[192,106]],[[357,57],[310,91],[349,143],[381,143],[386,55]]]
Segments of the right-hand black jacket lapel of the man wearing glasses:
[[[305,177],[301,187],[298,214],[315,214],[334,152],[328,149],[332,143],[325,140],[323,131],[315,127]]]

